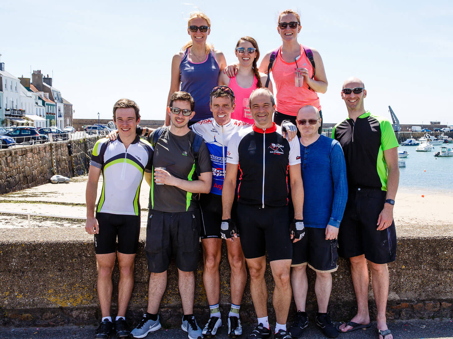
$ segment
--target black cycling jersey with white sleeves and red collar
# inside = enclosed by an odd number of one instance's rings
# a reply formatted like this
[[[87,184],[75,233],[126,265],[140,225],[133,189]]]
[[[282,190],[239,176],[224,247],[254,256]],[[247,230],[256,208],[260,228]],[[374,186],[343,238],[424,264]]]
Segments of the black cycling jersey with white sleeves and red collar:
[[[261,208],[288,204],[288,166],[300,164],[297,138],[289,142],[275,123],[265,130],[253,125],[233,134],[226,158],[239,164],[238,202]]]

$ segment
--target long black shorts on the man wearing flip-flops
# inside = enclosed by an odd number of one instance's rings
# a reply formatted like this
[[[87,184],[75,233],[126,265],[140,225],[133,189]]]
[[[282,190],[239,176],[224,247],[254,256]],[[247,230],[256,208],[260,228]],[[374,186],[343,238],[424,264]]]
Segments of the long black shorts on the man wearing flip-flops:
[[[371,188],[349,188],[346,209],[338,232],[338,254],[343,258],[365,254],[375,264],[396,258],[395,222],[377,231],[377,219],[386,201],[386,192]]]

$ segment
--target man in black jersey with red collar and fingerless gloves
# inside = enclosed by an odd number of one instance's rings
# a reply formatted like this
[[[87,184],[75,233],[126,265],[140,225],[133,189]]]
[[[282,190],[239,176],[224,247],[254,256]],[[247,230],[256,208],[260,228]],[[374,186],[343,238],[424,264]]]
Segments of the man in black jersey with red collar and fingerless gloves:
[[[222,233],[230,235],[235,231],[231,221],[231,206],[239,170],[237,222],[242,250],[250,270],[250,291],[258,317],[258,326],[247,338],[270,337],[264,279],[267,250],[275,281],[275,338],[287,339],[291,338],[286,331],[291,301],[291,239],[296,242],[304,236],[300,147],[297,139],[285,139],[281,127],[272,122],[275,99],[269,89],[255,89],[249,101],[255,123],[233,134],[228,143],[222,190]],[[288,216],[288,170],[295,211],[291,225]],[[229,240],[237,241],[237,238],[231,237]]]

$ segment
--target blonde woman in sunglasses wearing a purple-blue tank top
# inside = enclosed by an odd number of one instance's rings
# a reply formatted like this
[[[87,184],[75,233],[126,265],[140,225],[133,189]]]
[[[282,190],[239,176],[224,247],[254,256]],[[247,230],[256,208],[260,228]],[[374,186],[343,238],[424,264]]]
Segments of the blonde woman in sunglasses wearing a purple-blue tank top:
[[[195,116],[189,122],[189,126],[199,120],[212,117],[209,109],[209,92],[217,85],[219,72],[226,66],[223,53],[214,50],[213,46],[206,42],[207,36],[211,33],[210,27],[211,20],[206,14],[192,13],[187,24],[187,33],[191,40],[173,56],[171,64],[167,106],[174,92],[183,90],[190,93],[195,99]],[[165,111],[164,126],[169,124],[170,116]]]

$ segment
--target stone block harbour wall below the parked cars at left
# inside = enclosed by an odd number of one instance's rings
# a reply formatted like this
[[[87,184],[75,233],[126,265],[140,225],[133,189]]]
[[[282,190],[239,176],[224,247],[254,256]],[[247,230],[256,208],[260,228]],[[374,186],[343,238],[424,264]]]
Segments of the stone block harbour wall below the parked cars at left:
[[[0,194],[48,183],[54,174],[69,178],[86,174],[97,139],[99,137],[93,136],[0,150]],[[52,153],[55,155],[55,173]]]

